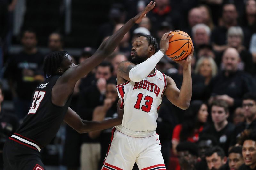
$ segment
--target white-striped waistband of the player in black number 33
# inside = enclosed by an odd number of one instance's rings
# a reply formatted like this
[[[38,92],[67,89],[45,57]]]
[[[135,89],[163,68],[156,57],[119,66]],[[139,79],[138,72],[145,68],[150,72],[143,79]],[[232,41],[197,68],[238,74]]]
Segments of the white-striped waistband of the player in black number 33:
[[[25,146],[28,146],[32,149],[38,150],[39,152],[41,151],[41,147],[39,146],[39,144],[37,144],[35,141],[31,139],[21,136],[20,134],[15,133],[11,137],[9,137],[9,139],[20,144],[23,144]]]

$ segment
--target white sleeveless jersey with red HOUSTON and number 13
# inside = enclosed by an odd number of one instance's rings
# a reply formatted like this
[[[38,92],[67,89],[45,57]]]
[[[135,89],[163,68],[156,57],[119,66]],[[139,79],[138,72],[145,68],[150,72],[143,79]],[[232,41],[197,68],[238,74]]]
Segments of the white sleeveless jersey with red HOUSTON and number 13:
[[[156,134],[157,110],[162,102],[166,88],[164,73],[155,69],[141,82],[127,81],[117,85],[124,116],[121,125],[116,129],[132,137],[148,137]]]

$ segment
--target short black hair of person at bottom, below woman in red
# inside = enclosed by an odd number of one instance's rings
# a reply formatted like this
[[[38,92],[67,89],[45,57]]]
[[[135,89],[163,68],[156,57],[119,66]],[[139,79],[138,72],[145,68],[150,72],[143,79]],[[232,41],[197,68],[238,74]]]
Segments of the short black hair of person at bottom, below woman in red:
[[[198,146],[195,143],[189,142],[189,141],[184,141],[180,142],[176,150],[179,151],[188,151],[190,154],[198,156]]]

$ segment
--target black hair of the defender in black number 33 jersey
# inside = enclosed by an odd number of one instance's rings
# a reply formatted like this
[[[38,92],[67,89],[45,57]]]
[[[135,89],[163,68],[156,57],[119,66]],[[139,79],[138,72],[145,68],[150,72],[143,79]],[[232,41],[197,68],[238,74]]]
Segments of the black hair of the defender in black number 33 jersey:
[[[67,51],[54,51],[46,55],[44,59],[45,78],[57,75],[57,69],[61,66],[64,58],[68,58]]]

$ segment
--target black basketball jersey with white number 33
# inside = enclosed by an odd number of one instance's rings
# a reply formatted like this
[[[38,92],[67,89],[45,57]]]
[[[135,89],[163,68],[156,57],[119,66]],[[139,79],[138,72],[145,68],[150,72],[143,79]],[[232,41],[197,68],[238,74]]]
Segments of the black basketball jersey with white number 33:
[[[52,103],[52,87],[59,77],[47,78],[37,86],[28,114],[17,132],[10,137],[11,140],[39,151],[51,142],[58,132],[71,102],[71,97],[69,97],[63,107]]]

